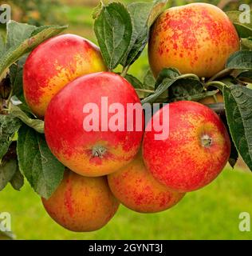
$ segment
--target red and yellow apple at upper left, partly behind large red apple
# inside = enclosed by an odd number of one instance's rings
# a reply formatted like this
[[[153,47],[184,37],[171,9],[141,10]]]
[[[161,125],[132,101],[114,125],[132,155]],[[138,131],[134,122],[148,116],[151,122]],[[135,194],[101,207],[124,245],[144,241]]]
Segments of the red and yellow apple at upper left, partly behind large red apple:
[[[75,34],[49,38],[35,48],[26,60],[23,89],[33,113],[43,118],[55,94],[83,74],[105,71],[100,49]]]

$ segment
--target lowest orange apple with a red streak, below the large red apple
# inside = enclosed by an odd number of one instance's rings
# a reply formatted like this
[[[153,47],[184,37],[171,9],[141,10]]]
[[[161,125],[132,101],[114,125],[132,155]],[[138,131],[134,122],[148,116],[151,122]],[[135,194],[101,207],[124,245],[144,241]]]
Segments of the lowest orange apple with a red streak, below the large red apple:
[[[42,202],[55,222],[75,232],[99,230],[119,206],[107,178],[87,178],[70,170],[65,170],[60,186],[49,199],[42,198]]]

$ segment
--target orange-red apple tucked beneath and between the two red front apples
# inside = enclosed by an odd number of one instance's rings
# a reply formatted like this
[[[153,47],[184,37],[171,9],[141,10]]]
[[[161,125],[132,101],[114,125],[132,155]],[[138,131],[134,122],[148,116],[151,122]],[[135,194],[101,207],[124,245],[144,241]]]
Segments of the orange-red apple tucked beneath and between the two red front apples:
[[[159,183],[144,166],[141,154],[108,175],[112,194],[126,207],[140,213],[156,213],[175,206],[184,196]]]

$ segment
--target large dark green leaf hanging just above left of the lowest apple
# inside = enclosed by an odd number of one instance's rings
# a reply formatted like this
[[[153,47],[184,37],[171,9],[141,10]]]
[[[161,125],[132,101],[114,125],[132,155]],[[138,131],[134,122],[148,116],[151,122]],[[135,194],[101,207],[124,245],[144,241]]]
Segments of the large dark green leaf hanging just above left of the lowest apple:
[[[23,125],[18,132],[18,162],[33,190],[49,198],[63,178],[65,166],[57,161],[45,136]]]

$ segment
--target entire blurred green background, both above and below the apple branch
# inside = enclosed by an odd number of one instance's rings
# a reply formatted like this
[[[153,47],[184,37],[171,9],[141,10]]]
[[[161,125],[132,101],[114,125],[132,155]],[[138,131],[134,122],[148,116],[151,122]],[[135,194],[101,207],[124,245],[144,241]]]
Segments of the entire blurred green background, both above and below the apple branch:
[[[22,1],[22,4],[24,2],[30,0]],[[18,6],[20,1],[10,1],[17,12],[14,19],[40,23],[41,14],[37,15],[36,11],[44,8],[42,12],[45,12],[46,1],[35,2],[41,2],[43,7],[33,6],[30,13],[25,11],[26,16],[20,14],[24,8]],[[49,8],[55,8],[53,10],[55,22],[69,24],[66,32],[79,34],[96,42],[92,19],[93,6],[96,2],[64,0],[59,1],[60,5]],[[175,6],[185,2],[194,1],[176,0],[170,1],[170,5]],[[215,4],[218,2],[211,1]],[[235,3],[228,6],[231,10],[236,7]],[[42,17],[42,19],[45,23],[53,20],[52,17],[49,19]],[[146,70],[148,70],[148,56],[145,50],[129,73],[141,79]],[[251,190],[250,172],[240,167],[236,170],[226,167],[210,186],[187,194],[183,201],[171,210],[160,214],[136,214],[120,206],[120,210],[107,226],[102,230],[86,234],[70,232],[53,222],[41,205],[41,199],[27,182],[21,192],[14,191],[10,186],[0,192],[0,212],[10,212],[12,229],[18,239],[251,239],[252,232],[238,230],[239,214],[248,212],[252,216]]]

